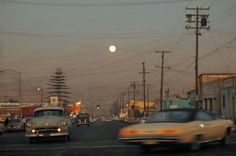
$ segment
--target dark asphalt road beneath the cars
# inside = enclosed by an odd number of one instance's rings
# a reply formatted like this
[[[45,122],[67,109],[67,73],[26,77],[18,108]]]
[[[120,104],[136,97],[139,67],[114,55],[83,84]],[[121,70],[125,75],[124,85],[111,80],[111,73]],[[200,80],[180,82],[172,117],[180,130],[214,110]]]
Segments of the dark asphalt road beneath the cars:
[[[6,133],[0,136],[1,156],[234,156],[236,155],[236,133],[233,133],[229,145],[222,147],[218,143],[205,145],[198,152],[184,149],[158,148],[144,153],[138,146],[126,145],[117,140],[117,134],[126,123],[119,121],[97,121],[91,127],[73,127],[71,140],[42,140],[29,144],[24,132]]]

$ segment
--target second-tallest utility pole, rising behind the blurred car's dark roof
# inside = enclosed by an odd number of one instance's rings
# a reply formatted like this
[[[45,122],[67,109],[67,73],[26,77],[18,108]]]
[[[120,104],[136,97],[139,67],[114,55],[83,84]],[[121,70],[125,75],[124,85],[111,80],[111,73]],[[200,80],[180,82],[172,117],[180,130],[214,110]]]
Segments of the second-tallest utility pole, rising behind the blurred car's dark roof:
[[[156,53],[161,53],[160,111],[162,111],[162,103],[163,103],[163,78],[164,78],[164,55],[165,55],[165,53],[171,53],[171,51],[165,51],[165,50],[158,51],[157,50]]]

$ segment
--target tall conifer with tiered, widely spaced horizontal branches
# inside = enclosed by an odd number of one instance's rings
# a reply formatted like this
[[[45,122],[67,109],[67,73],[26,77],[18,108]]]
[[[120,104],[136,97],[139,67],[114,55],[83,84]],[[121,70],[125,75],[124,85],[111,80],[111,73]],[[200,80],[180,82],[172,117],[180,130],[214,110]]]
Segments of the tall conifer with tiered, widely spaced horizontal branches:
[[[56,72],[51,76],[48,84],[48,94],[50,96],[56,96],[58,97],[58,103],[60,105],[65,104],[68,102],[68,98],[70,98],[68,95],[71,94],[68,92],[68,89],[70,89],[66,85],[66,76],[65,73],[61,68],[57,68]]]

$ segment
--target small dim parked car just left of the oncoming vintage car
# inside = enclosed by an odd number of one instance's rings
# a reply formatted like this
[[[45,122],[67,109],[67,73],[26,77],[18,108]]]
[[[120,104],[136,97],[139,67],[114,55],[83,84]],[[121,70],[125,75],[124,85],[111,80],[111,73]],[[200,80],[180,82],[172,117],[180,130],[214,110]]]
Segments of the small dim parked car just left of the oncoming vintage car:
[[[7,124],[7,131],[22,131],[25,129],[22,119],[9,120]]]

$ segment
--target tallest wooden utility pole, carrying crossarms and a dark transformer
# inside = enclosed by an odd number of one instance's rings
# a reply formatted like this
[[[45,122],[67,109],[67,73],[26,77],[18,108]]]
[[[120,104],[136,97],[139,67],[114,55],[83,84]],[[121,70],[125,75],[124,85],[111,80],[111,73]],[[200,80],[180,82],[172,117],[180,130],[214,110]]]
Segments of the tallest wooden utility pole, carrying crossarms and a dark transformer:
[[[186,18],[188,23],[195,23],[195,26],[191,26],[191,24],[188,24],[185,26],[186,29],[195,29],[196,33],[196,56],[195,56],[195,107],[199,107],[199,89],[198,89],[198,36],[201,35],[199,32],[199,29],[209,29],[210,27],[207,26],[208,21],[208,14],[199,14],[199,11],[202,10],[209,10],[210,8],[203,8],[203,7],[196,7],[196,8],[188,8],[186,7],[186,10],[196,11],[196,13],[186,14]],[[195,20],[192,19],[192,17],[195,16]],[[199,23],[201,24],[199,26]]]

